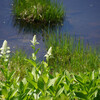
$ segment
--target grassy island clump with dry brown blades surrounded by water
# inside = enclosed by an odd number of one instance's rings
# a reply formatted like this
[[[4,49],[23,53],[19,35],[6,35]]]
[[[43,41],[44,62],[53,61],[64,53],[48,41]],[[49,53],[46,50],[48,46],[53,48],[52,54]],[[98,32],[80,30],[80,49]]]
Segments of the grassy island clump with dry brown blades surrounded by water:
[[[27,23],[58,23],[64,18],[64,8],[56,0],[14,0],[16,19]]]

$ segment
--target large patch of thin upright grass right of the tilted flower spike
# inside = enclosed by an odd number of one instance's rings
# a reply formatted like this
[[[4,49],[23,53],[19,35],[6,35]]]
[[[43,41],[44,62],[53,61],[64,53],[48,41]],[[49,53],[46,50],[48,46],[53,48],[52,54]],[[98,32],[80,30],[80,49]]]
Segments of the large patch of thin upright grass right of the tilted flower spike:
[[[82,40],[66,34],[47,34],[46,47],[52,46],[53,58],[49,60],[49,66],[53,71],[69,70],[70,72],[93,71],[100,67],[100,58],[95,49],[84,46]]]

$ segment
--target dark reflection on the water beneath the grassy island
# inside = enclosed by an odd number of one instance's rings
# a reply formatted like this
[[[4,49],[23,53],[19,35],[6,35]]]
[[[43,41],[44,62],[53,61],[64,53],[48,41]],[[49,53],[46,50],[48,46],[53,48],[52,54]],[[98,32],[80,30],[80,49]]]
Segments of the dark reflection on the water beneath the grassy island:
[[[17,28],[19,30],[19,33],[24,32],[24,34],[25,33],[34,34],[35,32],[42,33],[42,30],[46,30],[46,31],[48,31],[48,29],[55,30],[57,26],[61,27],[61,23],[57,23],[57,24],[49,23],[44,25],[44,23],[27,23],[23,20],[16,19],[14,16],[12,19],[13,19],[12,21],[13,27]]]

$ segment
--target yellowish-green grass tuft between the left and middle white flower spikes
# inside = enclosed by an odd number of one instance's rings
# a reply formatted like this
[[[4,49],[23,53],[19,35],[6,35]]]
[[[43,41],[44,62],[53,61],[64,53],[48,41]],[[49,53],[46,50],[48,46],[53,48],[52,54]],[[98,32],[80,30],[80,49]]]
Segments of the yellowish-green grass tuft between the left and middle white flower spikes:
[[[26,61],[27,55],[22,50],[16,50],[10,57],[9,70],[16,71],[15,77],[20,76],[23,79],[27,73],[27,70],[32,69],[32,65]]]

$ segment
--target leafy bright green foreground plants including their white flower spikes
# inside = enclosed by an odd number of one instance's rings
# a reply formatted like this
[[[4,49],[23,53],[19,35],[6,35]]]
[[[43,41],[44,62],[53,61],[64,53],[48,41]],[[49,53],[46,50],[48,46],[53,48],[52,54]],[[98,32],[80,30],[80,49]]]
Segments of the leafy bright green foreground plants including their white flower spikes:
[[[18,52],[9,58],[10,48],[6,40],[0,48],[0,100],[99,100],[99,68],[78,74],[67,70],[51,74],[48,63],[54,57],[53,47],[45,55],[46,61],[38,62],[36,35],[31,43],[34,49],[31,59]],[[21,69],[25,71],[23,77],[18,73]]]

